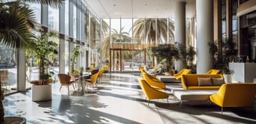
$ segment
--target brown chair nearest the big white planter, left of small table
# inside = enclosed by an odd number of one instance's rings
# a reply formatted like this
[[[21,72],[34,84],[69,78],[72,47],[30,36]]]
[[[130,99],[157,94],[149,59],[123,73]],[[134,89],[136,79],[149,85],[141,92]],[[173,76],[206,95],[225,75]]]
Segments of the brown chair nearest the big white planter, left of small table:
[[[58,74],[58,77],[59,77],[59,82],[61,84],[59,91],[62,89],[62,86],[67,86],[68,95],[69,95],[69,85],[73,85],[73,88],[75,89],[73,84],[75,81],[71,80],[71,77],[69,76],[69,74]]]

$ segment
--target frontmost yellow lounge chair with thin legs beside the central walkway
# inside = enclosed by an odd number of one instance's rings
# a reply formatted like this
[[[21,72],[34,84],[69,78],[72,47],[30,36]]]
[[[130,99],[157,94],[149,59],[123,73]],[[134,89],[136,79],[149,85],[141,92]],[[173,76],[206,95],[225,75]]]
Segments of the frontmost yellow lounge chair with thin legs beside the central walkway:
[[[161,88],[151,87],[151,85],[148,84],[147,81],[145,81],[141,77],[138,77],[138,81],[140,82],[140,87],[143,90],[144,95],[146,96],[146,98],[148,98],[148,101],[150,99],[167,98],[167,102],[168,102],[169,94],[166,93],[164,90],[162,90]]]

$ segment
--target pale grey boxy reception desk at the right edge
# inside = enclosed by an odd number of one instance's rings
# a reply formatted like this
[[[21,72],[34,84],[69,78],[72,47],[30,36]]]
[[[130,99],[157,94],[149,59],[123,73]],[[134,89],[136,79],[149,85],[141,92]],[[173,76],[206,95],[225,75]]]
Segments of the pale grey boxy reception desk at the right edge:
[[[234,82],[253,82],[256,78],[256,63],[229,63],[229,68],[234,71]]]

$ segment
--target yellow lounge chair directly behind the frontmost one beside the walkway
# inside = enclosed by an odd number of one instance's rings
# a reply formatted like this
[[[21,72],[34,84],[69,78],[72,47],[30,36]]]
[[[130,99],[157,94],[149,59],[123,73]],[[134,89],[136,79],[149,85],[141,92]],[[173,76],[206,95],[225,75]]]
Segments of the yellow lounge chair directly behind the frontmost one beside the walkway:
[[[142,74],[149,85],[157,88],[165,88],[165,84],[162,81],[160,81],[157,77],[149,75],[145,71],[143,71]]]

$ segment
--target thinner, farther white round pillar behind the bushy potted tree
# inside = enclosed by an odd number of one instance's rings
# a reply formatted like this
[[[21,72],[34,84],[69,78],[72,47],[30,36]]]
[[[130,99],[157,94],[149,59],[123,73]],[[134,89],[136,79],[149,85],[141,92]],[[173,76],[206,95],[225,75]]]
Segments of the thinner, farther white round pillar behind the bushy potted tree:
[[[175,42],[186,44],[186,2],[176,2],[175,5]],[[176,60],[177,71],[186,67],[182,60]]]

